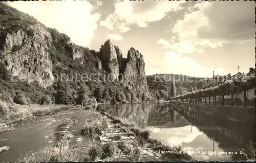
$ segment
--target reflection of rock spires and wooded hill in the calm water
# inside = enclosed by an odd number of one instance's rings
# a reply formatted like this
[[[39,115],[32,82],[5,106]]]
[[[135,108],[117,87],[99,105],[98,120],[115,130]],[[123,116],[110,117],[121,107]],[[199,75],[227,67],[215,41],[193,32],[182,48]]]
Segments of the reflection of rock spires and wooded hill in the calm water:
[[[103,104],[98,105],[97,110],[109,112],[114,117],[123,117],[134,121],[141,127],[172,128],[189,125],[167,103]]]

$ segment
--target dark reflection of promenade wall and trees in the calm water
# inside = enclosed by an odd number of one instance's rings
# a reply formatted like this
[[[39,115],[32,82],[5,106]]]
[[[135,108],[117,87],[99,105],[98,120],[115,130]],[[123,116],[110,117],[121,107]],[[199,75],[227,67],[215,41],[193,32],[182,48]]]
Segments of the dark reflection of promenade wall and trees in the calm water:
[[[184,110],[173,107],[184,116],[192,125],[218,143],[224,151],[240,152],[242,149],[249,153],[249,142],[255,143],[255,126],[230,122],[196,110]],[[233,160],[244,159],[242,155],[232,155]]]

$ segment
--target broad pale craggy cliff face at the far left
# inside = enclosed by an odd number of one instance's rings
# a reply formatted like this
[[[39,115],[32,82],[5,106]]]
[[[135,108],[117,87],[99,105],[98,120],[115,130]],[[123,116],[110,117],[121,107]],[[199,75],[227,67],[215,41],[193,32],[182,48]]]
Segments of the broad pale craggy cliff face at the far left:
[[[54,81],[48,52],[52,45],[51,34],[40,25],[30,26],[29,30],[29,34],[18,30],[2,35],[2,62],[13,76],[28,82],[36,80],[41,86],[48,87]]]

